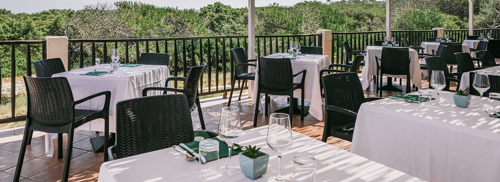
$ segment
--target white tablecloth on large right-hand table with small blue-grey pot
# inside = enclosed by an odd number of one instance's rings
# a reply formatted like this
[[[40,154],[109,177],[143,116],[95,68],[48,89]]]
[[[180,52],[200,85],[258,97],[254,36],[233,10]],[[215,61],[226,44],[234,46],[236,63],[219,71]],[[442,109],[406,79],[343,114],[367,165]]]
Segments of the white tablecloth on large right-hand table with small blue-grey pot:
[[[452,94],[441,91],[440,108],[363,103],[350,151],[423,180],[500,181],[500,119],[473,108],[478,96],[460,108]]]

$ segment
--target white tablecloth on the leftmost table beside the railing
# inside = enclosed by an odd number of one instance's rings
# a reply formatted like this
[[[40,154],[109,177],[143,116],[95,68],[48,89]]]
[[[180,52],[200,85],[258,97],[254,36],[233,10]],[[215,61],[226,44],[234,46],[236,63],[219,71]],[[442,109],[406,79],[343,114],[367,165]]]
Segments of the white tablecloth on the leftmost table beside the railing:
[[[166,78],[170,77],[168,66],[165,65],[141,65],[137,67],[120,67],[113,73],[100,76],[79,75],[97,69],[97,71],[109,71],[109,64],[100,64],[80,69],[70,70],[52,75],[52,77],[64,76],[67,78],[74,100],[90,96],[101,91],[111,91],[109,103],[109,132],[115,132],[116,122],[116,102],[129,98],[142,96],[142,89],[152,86],[165,86]],[[171,83],[168,83],[171,87]],[[160,93],[160,92],[155,92]],[[155,94],[153,91],[148,95]],[[104,96],[90,99],[75,106],[78,109],[102,109]],[[104,119],[95,119],[87,122],[76,129],[104,131]],[[56,138],[57,134],[45,134],[45,151],[47,155],[53,154],[53,144],[51,138]],[[48,148],[47,148],[48,147]]]

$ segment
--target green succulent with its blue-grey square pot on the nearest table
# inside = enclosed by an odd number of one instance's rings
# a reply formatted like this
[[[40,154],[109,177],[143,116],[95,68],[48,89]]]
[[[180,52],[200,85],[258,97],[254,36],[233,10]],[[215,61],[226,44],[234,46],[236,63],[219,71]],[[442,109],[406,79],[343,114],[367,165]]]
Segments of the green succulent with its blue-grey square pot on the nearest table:
[[[258,178],[267,171],[269,154],[258,151],[259,149],[248,145],[245,151],[238,154],[241,172],[250,179]]]

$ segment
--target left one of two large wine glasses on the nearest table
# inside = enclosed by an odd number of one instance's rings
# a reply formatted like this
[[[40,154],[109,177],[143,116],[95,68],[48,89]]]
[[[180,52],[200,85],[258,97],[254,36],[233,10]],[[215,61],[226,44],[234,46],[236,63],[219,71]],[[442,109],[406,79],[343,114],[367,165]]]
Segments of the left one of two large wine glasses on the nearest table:
[[[233,175],[241,171],[239,166],[231,164],[231,147],[232,143],[234,143],[242,133],[243,128],[241,127],[241,119],[239,118],[239,108],[223,107],[220,112],[218,134],[227,143],[227,148],[229,149],[229,163],[218,168],[220,173]]]

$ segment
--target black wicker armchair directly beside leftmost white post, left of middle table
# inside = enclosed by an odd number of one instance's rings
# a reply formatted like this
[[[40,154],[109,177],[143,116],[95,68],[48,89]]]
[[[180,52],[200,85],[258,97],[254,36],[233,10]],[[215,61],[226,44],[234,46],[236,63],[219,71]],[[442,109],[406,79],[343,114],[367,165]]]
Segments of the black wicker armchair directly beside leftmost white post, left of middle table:
[[[232,77],[231,80],[231,94],[229,94],[229,99],[227,100],[227,106],[231,104],[232,91],[234,90],[234,85],[236,84],[236,80],[243,80],[241,81],[242,84],[244,84],[246,80],[255,80],[255,73],[248,72],[248,66],[255,66],[255,67],[257,66],[256,64],[248,63],[257,61],[257,59],[248,59],[246,57],[245,50],[241,47],[231,48],[231,54],[234,57],[234,61],[232,62],[234,64],[234,76]],[[241,90],[239,90],[238,100],[241,100],[241,93],[243,92],[244,86],[242,85],[239,86],[241,87]]]

